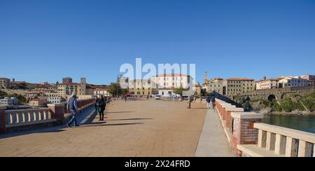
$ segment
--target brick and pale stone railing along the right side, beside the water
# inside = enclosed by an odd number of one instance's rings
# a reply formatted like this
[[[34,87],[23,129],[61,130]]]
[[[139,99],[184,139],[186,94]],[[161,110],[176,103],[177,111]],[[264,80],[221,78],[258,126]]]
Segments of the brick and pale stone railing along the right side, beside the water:
[[[261,123],[263,115],[216,100],[234,156],[314,157],[315,134]]]

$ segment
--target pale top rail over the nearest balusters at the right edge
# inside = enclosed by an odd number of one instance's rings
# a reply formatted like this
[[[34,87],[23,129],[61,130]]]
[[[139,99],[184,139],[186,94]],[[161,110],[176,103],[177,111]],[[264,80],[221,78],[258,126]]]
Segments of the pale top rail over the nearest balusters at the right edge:
[[[286,137],[293,137],[294,139],[301,139],[306,142],[315,143],[315,134],[310,132],[303,132],[300,130],[293,130],[290,128],[283,128],[275,125],[268,125],[265,123],[255,123],[254,128],[272,132],[274,134],[283,135]]]

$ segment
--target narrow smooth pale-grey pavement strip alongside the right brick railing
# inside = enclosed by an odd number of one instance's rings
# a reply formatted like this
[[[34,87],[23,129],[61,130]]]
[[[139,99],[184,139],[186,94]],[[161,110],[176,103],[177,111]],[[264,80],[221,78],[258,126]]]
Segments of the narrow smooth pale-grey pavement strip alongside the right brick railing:
[[[202,135],[200,135],[196,156],[231,157],[229,146],[218,114],[209,109],[204,121],[204,128],[202,128]]]

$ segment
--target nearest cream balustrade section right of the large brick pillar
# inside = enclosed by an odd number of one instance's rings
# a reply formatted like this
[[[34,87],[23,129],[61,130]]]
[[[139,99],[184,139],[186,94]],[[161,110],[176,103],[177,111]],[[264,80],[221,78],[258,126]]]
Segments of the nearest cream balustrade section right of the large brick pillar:
[[[264,123],[255,123],[254,128],[259,132],[259,148],[272,151],[279,156],[315,157],[315,134]]]

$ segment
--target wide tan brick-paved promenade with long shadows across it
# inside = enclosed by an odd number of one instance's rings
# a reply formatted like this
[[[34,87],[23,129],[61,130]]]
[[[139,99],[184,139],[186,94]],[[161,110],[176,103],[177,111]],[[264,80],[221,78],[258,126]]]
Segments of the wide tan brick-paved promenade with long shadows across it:
[[[0,156],[195,156],[206,104],[114,102],[106,121],[0,136]],[[88,112],[86,114],[88,116]],[[83,116],[81,120],[83,120]]]

